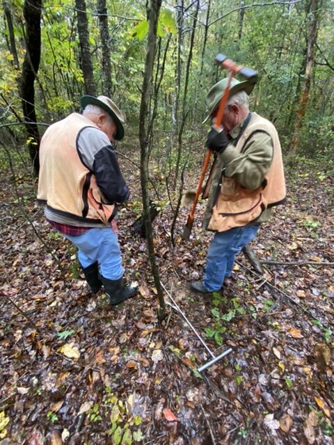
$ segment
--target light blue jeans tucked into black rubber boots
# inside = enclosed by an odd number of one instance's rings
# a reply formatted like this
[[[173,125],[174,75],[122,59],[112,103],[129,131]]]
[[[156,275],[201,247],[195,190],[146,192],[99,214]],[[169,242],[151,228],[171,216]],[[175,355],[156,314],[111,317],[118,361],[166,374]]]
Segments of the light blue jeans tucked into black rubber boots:
[[[98,261],[104,278],[118,280],[122,277],[120,245],[111,227],[89,229],[79,236],[64,236],[77,246],[79,263],[83,268]]]

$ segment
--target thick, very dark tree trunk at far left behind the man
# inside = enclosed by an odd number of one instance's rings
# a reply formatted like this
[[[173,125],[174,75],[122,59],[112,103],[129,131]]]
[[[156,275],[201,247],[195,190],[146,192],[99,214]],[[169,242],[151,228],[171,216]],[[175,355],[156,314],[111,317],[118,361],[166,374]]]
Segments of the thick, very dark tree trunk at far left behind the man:
[[[22,65],[22,110],[28,133],[28,147],[33,173],[38,175],[40,162],[38,152],[40,134],[36,124],[35,88],[34,82],[40,66],[40,17],[42,14],[42,0],[25,0],[23,15],[26,20],[26,55]]]

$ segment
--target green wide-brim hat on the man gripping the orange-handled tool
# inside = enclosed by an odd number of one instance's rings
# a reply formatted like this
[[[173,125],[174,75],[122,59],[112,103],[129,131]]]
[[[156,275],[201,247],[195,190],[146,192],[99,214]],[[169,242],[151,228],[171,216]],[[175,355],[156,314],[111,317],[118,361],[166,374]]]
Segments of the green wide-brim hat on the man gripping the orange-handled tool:
[[[207,93],[207,97],[205,99],[205,103],[207,104],[207,111],[209,111],[209,114],[203,120],[203,124],[207,122],[207,120],[210,118],[214,110],[217,108],[221,98],[223,97],[223,92],[228,85],[228,77],[225,77],[225,79],[222,79],[221,81],[214,84],[214,86],[209,90]],[[230,91],[228,93],[228,99],[230,97],[237,94],[239,91],[245,91],[248,95],[250,92],[253,91],[253,88],[255,87],[255,83],[252,83],[248,80],[240,82],[237,79],[232,79],[230,84]]]

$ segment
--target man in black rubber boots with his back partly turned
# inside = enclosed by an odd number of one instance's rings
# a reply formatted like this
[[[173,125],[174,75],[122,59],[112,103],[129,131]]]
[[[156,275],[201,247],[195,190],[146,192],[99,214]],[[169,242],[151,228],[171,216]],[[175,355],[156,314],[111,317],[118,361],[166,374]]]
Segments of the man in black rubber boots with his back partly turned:
[[[116,305],[136,293],[122,280],[115,222],[117,203],[129,198],[112,145],[124,136],[125,115],[105,96],[81,97],[81,108],[42,137],[38,200],[51,226],[77,246],[90,291],[103,285]]]

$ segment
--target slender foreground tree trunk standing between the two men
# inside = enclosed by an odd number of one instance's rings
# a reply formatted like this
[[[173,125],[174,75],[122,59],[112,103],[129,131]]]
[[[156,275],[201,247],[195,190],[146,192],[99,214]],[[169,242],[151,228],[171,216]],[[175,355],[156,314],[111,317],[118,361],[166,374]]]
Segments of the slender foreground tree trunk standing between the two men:
[[[143,78],[143,87],[141,89],[141,107],[139,113],[139,142],[141,145],[141,191],[143,195],[143,216],[145,218],[145,232],[148,239],[148,256],[154,277],[154,284],[157,288],[159,298],[159,317],[164,317],[165,302],[160,284],[160,274],[155,261],[155,252],[152,236],[152,223],[150,216],[150,197],[148,195],[148,143],[150,140],[150,131],[152,131],[152,118],[148,104],[150,95],[152,95],[152,74],[154,66],[155,48],[157,42],[157,22],[161,0],[151,0],[148,8],[148,44],[145,58],[145,72]]]

